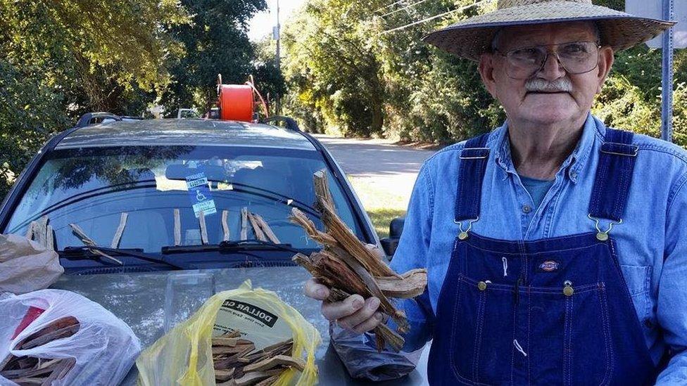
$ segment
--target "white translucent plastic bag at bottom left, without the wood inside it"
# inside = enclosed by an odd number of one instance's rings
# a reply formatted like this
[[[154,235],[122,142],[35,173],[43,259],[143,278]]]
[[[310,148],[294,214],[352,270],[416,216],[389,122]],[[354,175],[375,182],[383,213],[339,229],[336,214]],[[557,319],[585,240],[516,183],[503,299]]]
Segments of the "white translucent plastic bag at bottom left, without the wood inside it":
[[[13,339],[30,307],[34,307],[34,315],[36,309],[44,311]],[[9,354],[76,360],[67,375],[53,385],[118,385],[141,352],[138,338],[126,323],[100,304],[74,292],[40,290],[3,296],[0,315],[0,362]],[[32,349],[13,349],[25,337],[65,316],[73,316],[80,323],[74,335]],[[0,375],[0,385],[15,383]]]

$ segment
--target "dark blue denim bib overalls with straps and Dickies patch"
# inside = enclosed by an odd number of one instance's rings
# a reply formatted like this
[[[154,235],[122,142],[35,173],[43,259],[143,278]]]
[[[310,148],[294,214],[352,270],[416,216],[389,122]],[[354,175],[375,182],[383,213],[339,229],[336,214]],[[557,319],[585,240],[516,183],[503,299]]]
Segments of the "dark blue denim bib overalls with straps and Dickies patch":
[[[479,219],[487,136],[460,155],[455,238],[436,306],[431,385],[645,385],[655,380],[610,228],[619,224],[637,147],[607,129],[589,203],[598,232],[534,241],[470,232]],[[465,229],[465,230],[464,230]]]

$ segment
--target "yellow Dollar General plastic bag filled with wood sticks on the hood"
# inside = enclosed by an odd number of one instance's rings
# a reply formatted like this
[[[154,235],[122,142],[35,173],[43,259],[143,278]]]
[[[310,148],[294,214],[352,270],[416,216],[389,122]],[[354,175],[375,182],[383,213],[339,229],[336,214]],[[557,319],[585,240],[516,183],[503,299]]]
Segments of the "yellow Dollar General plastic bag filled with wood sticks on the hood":
[[[246,281],[141,353],[139,384],[315,385],[318,345],[320,333],[296,309]]]

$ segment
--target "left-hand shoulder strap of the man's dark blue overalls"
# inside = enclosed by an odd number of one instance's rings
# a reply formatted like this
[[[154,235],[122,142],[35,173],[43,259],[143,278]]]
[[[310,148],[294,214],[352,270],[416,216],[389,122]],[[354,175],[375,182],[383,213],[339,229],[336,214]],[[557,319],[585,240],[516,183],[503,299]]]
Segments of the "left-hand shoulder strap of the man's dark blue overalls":
[[[455,196],[456,222],[474,220],[479,217],[479,204],[482,195],[482,180],[489,160],[486,140],[489,133],[467,140],[460,152],[458,171],[458,191]]]

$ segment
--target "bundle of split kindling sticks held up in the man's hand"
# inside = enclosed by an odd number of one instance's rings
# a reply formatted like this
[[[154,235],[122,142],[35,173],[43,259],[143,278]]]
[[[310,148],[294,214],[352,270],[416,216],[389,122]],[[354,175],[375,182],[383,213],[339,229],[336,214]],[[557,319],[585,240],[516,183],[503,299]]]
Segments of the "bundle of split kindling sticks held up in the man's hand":
[[[313,178],[315,207],[322,214],[324,231],[318,230],[297,208],[291,211],[290,219],[324,248],[309,257],[298,253],[293,260],[330,288],[329,302],[338,302],[353,294],[379,298],[380,311],[391,317],[397,330],[386,324],[377,326],[374,329],[377,349],[382,351],[388,343],[398,351],[405,342],[398,333],[407,333],[410,325],[405,312],[397,309],[389,298],[410,299],[422,295],[427,287],[427,269],[412,269],[401,275],[394,272],[370,247],[358,240],[336,214],[326,172],[315,172]]]

